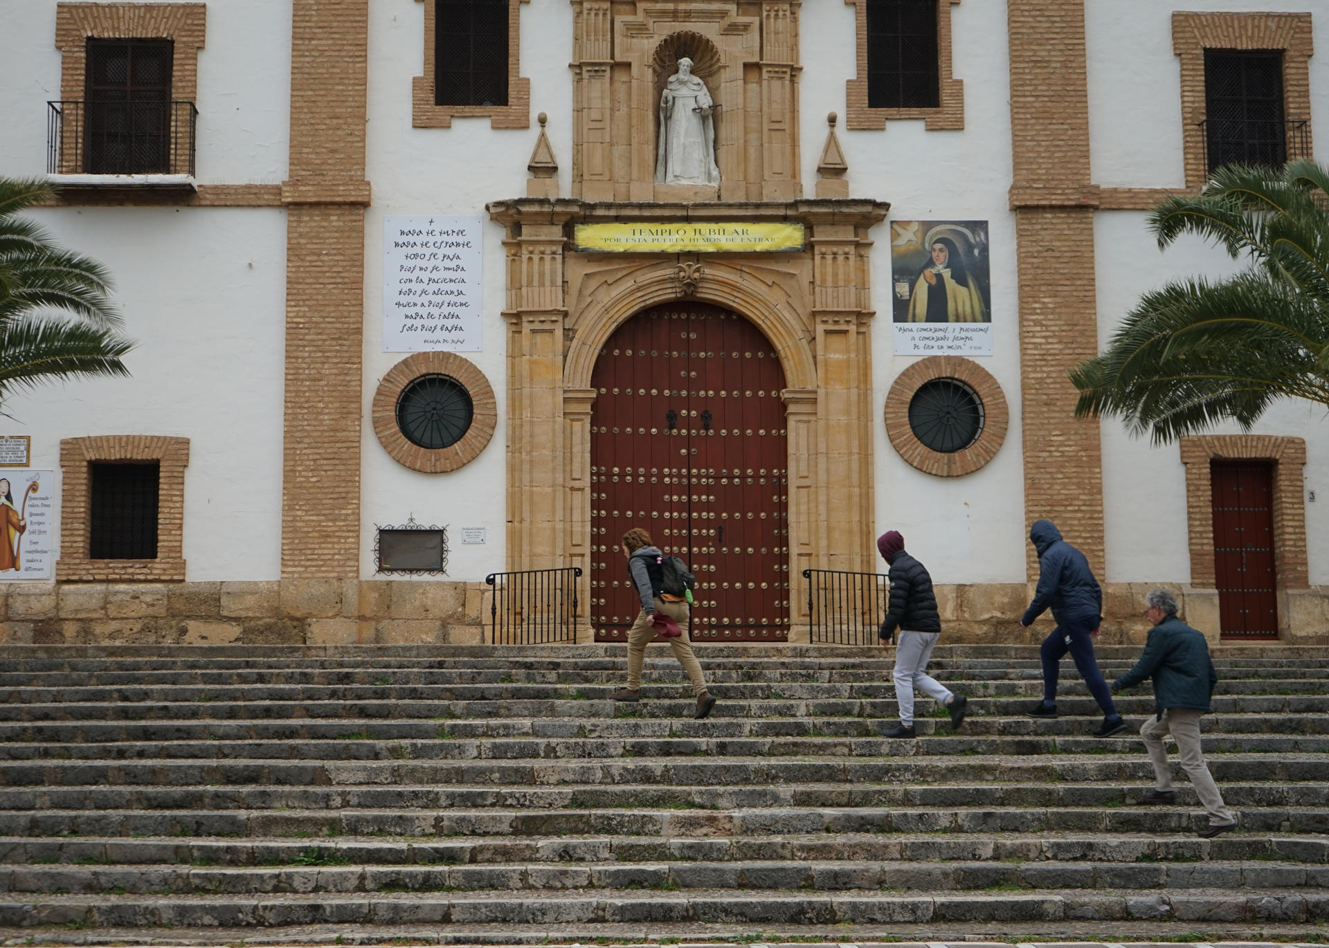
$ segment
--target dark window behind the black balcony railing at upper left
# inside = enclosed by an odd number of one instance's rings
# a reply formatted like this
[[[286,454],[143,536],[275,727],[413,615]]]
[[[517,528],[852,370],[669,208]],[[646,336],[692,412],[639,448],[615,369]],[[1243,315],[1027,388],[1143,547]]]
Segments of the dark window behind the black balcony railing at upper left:
[[[170,40],[88,40],[89,174],[170,167]]]

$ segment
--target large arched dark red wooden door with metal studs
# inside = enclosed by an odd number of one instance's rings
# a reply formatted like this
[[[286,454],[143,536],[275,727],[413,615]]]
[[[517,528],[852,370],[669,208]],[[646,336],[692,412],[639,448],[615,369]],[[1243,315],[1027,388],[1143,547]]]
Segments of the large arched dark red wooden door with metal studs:
[[[645,527],[696,574],[695,641],[784,641],[784,370],[771,343],[720,307],[654,307],[609,339],[591,386],[595,640],[623,641],[637,616],[619,538]]]

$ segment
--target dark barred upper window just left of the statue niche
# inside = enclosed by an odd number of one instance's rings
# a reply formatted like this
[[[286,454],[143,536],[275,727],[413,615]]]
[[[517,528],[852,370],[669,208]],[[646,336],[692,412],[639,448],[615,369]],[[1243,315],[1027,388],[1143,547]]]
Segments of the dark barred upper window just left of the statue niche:
[[[435,105],[508,105],[508,7],[436,0]]]

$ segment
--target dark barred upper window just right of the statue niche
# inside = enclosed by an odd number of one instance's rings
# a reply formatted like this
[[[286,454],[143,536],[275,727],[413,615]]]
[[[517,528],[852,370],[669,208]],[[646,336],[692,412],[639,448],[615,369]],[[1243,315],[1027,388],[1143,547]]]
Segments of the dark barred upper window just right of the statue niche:
[[[940,105],[937,0],[868,0],[868,108]]]

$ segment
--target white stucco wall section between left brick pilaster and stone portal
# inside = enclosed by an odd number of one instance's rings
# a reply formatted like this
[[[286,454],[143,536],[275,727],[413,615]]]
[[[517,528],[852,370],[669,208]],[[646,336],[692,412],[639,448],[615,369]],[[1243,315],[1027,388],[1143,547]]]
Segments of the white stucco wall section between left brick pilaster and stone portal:
[[[562,193],[571,167],[571,13],[562,3],[521,8],[521,76],[530,78],[529,129],[492,129],[488,118],[457,118],[451,129],[411,125],[411,81],[424,73],[424,4],[369,3],[368,178],[373,204],[365,215],[364,417],[384,373],[407,353],[383,352],[383,219],[408,214],[472,214],[485,220],[484,341],[459,353],[485,373],[498,400],[498,428],[478,458],[460,470],[421,474],[393,461],[365,421],[360,506],[361,575],[372,578],[375,526],[449,527],[448,576],[478,582],[504,568],[506,524],[506,325],[504,228],[485,203],[526,194],[526,162],[549,113],[548,134],[560,162]],[[464,546],[462,527],[484,527],[484,546]],[[393,579],[403,576],[393,575]],[[428,578],[425,578],[428,579]]]

